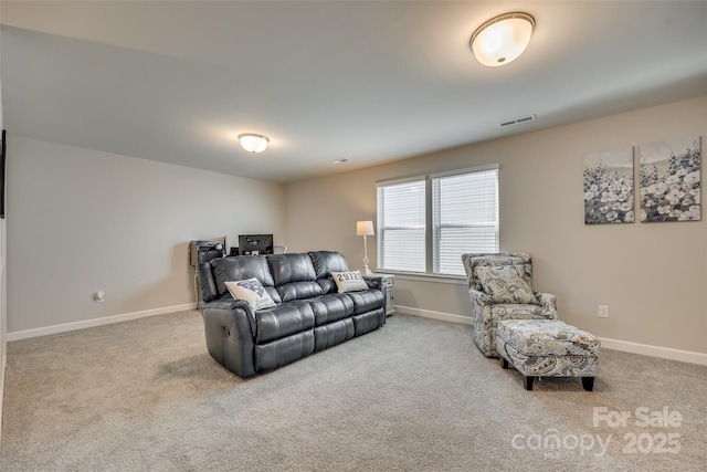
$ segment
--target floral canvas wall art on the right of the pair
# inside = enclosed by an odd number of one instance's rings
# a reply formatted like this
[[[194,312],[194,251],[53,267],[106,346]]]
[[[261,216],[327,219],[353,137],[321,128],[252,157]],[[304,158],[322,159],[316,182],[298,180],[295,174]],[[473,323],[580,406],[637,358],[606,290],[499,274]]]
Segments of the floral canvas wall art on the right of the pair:
[[[699,221],[699,136],[641,146],[641,221]]]

